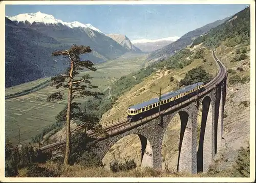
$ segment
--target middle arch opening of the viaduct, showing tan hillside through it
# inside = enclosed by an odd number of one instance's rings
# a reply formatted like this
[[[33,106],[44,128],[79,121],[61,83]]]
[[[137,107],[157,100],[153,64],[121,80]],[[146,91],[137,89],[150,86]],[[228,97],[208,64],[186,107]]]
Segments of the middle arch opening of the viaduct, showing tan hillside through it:
[[[193,104],[194,105],[194,104]],[[194,172],[193,118],[191,111],[182,108],[174,112],[164,124],[162,140],[162,168],[174,171]]]

